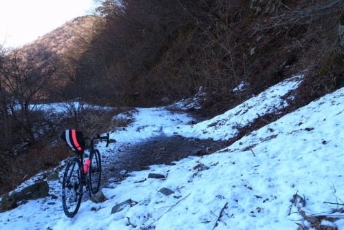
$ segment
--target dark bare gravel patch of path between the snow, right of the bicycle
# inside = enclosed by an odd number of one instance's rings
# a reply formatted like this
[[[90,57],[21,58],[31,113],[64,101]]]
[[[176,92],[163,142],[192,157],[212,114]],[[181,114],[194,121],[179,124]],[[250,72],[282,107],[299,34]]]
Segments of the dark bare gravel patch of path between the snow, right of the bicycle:
[[[140,171],[149,165],[171,165],[188,156],[203,156],[226,147],[223,142],[184,138],[183,136],[157,136],[140,144],[122,147],[110,165],[105,165],[105,184],[125,178],[121,171]],[[106,187],[106,185],[105,185]]]

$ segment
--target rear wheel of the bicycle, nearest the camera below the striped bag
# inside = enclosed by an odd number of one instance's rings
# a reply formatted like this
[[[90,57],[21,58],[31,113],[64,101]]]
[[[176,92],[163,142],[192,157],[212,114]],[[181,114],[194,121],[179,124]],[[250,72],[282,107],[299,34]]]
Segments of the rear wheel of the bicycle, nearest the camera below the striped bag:
[[[83,197],[83,183],[81,178],[82,164],[78,157],[71,158],[65,167],[62,182],[62,206],[65,215],[69,218],[75,216]]]

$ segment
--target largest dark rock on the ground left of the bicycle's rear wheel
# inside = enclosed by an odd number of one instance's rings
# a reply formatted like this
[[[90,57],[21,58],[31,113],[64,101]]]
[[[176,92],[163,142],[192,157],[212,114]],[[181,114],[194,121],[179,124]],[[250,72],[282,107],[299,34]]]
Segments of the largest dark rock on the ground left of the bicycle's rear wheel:
[[[49,196],[49,185],[46,181],[36,182],[19,192],[14,192],[11,196],[16,201],[44,198],[45,196]]]

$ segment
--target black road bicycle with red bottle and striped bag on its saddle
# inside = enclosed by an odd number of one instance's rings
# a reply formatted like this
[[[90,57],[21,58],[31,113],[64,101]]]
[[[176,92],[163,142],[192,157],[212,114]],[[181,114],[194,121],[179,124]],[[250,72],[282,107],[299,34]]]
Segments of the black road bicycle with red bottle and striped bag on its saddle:
[[[67,217],[73,218],[83,198],[83,187],[85,186],[89,191],[89,196],[94,196],[99,191],[101,160],[100,152],[94,146],[94,140],[107,140],[106,147],[108,147],[109,134],[84,137],[81,132],[70,129],[63,132],[61,138],[76,153],[76,156],[72,156],[67,162],[62,182],[63,211]],[[85,140],[90,140],[89,145],[85,145]],[[88,159],[84,159],[85,149],[89,149]]]

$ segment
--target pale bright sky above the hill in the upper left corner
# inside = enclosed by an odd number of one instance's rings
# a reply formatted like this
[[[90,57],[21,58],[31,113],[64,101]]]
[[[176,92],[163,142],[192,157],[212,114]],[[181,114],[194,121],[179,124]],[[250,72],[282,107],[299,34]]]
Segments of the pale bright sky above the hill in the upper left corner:
[[[93,7],[93,0],[0,0],[0,46],[30,43]]]

